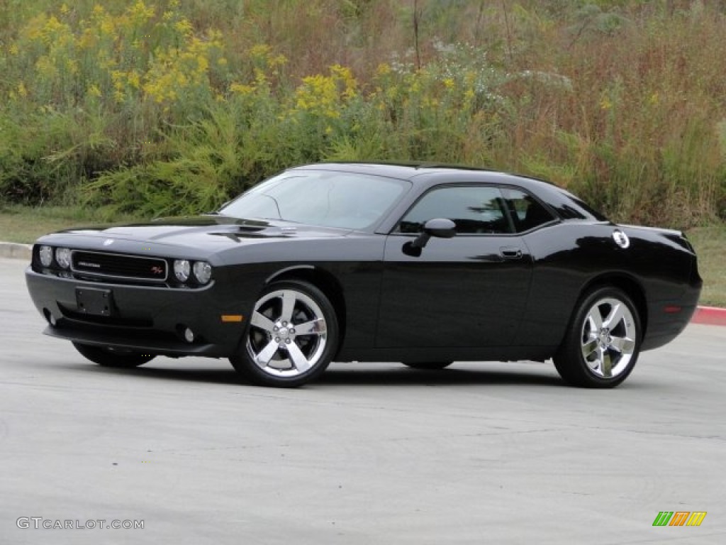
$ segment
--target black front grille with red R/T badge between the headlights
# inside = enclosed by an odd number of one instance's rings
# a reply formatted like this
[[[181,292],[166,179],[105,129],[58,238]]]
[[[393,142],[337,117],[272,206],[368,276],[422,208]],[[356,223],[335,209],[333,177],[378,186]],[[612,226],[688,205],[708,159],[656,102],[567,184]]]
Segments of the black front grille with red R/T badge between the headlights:
[[[71,268],[76,273],[105,278],[139,278],[166,280],[166,260],[158,257],[104,254],[97,251],[73,251]]]

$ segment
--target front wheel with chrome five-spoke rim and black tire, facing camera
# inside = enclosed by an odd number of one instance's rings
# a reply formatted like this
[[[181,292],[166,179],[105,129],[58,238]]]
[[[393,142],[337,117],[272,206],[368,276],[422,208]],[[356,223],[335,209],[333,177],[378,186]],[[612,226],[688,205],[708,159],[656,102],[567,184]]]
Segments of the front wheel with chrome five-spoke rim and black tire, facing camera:
[[[258,297],[237,354],[229,361],[254,384],[298,387],[330,365],[338,331],[335,309],[318,288],[298,280],[273,283]]]

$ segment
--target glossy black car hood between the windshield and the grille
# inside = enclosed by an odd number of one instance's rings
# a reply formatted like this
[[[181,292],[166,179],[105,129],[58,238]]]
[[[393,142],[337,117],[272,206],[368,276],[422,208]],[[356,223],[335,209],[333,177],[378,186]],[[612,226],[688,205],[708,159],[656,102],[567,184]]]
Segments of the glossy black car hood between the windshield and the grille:
[[[107,246],[121,250],[128,242],[221,251],[244,243],[286,238],[340,238],[350,230],[293,222],[240,219],[221,215],[173,217],[128,225],[101,225],[59,231],[39,241],[72,247]],[[126,248],[125,248],[126,249]]]

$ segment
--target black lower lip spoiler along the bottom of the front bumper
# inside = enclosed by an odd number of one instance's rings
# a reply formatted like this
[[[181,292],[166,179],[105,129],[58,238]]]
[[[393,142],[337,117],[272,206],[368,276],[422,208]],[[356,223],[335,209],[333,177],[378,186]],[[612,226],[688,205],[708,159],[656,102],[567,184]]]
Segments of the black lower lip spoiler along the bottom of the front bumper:
[[[155,355],[166,355],[172,358],[181,356],[205,356],[209,358],[226,358],[229,350],[216,344],[189,344],[169,339],[144,339],[137,337],[130,340],[129,336],[117,336],[108,333],[78,331],[62,327],[47,326],[44,335],[94,346],[123,348],[135,352],[150,352]]]

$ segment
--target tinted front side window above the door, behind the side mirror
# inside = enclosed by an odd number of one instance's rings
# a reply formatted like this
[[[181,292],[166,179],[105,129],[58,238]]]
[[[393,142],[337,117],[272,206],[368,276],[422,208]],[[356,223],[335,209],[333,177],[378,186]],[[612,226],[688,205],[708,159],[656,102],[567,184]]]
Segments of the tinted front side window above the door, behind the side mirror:
[[[429,191],[399,224],[400,233],[420,233],[433,218],[451,219],[457,234],[511,233],[497,187],[439,187]]]

